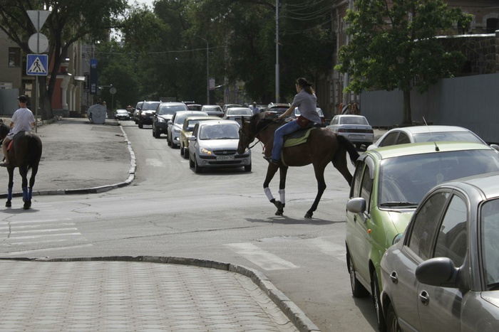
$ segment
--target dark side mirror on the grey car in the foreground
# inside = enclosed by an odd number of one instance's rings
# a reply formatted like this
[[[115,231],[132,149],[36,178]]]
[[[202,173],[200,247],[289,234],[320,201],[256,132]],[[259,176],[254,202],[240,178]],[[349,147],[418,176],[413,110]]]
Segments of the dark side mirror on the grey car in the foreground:
[[[416,279],[436,287],[456,287],[459,269],[448,257],[428,259],[416,267]]]

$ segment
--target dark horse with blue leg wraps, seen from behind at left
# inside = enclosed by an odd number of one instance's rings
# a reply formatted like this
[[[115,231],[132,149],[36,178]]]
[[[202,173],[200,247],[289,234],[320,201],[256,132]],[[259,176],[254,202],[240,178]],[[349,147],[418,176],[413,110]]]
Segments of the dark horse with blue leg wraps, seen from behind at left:
[[[0,139],[1,141],[9,134],[9,127],[3,122],[0,123]],[[12,206],[12,188],[14,187],[14,168],[19,168],[21,174],[23,188],[24,210],[31,208],[31,196],[33,196],[33,186],[35,184],[35,176],[38,173],[38,164],[41,159],[41,139],[37,134],[29,132],[19,132],[12,139],[12,145],[7,152],[9,154],[9,191],[7,193],[7,202],[5,206]],[[31,177],[29,178],[28,187],[28,171],[31,169]]]

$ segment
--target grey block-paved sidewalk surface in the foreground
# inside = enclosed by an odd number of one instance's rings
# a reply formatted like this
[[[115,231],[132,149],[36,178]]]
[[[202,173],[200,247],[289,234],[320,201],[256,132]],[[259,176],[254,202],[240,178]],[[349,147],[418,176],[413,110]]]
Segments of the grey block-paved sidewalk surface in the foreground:
[[[1,331],[298,331],[252,279],[153,262],[0,261]]]

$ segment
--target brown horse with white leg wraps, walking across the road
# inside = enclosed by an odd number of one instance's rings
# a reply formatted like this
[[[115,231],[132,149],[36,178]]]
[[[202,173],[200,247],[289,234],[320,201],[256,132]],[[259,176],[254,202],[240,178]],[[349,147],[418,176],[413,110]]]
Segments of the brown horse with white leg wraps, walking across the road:
[[[255,114],[245,121],[242,119],[242,124],[239,132],[239,145],[237,153],[242,154],[245,149],[249,148],[249,144],[257,138],[265,146],[265,155],[272,154],[272,144],[274,143],[274,132],[284,122],[275,122],[272,119],[260,119],[259,114]],[[293,134],[292,134],[293,135]],[[288,146],[282,149],[282,158],[278,165],[269,163],[267,168],[267,176],[263,183],[264,192],[269,198],[270,203],[277,207],[276,215],[282,215],[284,212],[284,187],[286,185],[286,174],[289,166],[306,166],[314,165],[315,178],[317,179],[317,196],[315,197],[312,207],[305,214],[305,218],[312,218],[319,200],[321,199],[324,190],[326,190],[326,182],[324,181],[324,169],[329,164],[333,163],[334,167],[341,173],[346,181],[351,184],[352,176],[347,167],[346,152],[350,156],[352,163],[355,163],[359,158],[359,153],[355,146],[344,136],[334,134],[326,128],[314,128],[309,134],[307,142],[296,146]],[[270,181],[274,178],[275,173],[279,169],[279,197],[280,200],[275,200],[269,189]]]

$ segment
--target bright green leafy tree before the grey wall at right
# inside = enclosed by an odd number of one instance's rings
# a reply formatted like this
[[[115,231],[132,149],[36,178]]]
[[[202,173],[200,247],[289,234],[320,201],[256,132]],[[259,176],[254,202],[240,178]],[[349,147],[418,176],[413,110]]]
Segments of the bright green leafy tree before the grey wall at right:
[[[341,46],[336,66],[351,77],[346,91],[401,90],[403,124],[411,124],[411,90],[422,93],[453,77],[465,61],[436,37],[471,18],[442,0],[355,0],[354,7],[345,18],[350,40]]]

